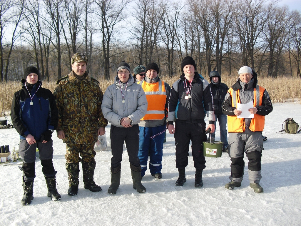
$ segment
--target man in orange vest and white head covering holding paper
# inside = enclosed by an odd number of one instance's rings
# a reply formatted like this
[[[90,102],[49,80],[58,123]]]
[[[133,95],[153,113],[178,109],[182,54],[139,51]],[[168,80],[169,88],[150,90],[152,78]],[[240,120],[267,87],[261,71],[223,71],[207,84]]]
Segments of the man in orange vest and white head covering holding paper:
[[[259,184],[262,178],[261,152],[263,149],[262,130],[265,115],[272,112],[272,102],[268,92],[257,85],[257,74],[252,68],[244,66],[238,71],[237,82],[228,90],[222,103],[223,113],[228,118],[229,146],[228,154],[231,157],[230,182],[225,188],[240,187],[244,176],[244,152],[249,159],[248,173],[250,187],[257,193],[263,192]],[[242,118],[239,104],[253,103],[249,109],[249,118]],[[247,112],[248,113],[248,112]]]

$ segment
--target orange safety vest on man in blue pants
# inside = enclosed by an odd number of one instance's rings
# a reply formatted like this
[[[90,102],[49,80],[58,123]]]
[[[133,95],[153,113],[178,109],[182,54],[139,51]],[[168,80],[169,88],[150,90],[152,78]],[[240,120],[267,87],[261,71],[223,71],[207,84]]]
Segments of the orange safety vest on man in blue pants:
[[[162,120],[165,117],[166,90],[163,81],[147,83],[139,81],[147,99],[147,111],[141,120]]]

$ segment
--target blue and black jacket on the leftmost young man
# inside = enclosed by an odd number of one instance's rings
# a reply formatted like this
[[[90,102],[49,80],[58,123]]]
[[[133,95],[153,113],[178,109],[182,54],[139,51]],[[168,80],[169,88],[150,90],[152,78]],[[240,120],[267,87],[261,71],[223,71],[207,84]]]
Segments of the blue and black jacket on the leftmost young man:
[[[33,96],[33,105],[29,93]],[[58,122],[57,107],[53,94],[49,89],[45,89],[42,82],[34,85],[22,80],[22,89],[14,94],[11,105],[11,120],[13,126],[20,134],[20,139],[25,140],[28,134],[33,135],[36,141],[41,139],[41,135],[48,129],[55,130]],[[38,89],[38,90],[37,90]]]

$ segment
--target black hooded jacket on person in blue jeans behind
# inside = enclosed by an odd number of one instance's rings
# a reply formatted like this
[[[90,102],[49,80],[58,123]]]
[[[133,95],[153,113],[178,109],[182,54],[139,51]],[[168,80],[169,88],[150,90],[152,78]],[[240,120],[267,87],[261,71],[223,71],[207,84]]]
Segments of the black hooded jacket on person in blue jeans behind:
[[[218,77],[218,76],[215,76]],[[228,86],[225,83],[221,83],[221,77],[219,78],[219,83],[214,84],[212,83],[212,78],[210,78],[210,88],[213,96],[213,105],[214,105],[214,114],[215,115],[222,115],[222,102],[225,99],[225,96],[228,91]]]

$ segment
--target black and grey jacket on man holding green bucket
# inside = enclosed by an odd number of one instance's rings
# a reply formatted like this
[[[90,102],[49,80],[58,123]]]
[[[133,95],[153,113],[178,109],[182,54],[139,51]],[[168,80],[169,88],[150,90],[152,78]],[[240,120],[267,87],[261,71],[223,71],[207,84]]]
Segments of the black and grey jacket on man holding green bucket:
[[[209,124],[214,124],[214,107],[209,83],[197,72],[194,74],[191,87],[191,98],[185,99],[184,73],[172,85],[168,107],[168,123],[173,124],[177,119],[189,123],[204,120],[206,113]]]

